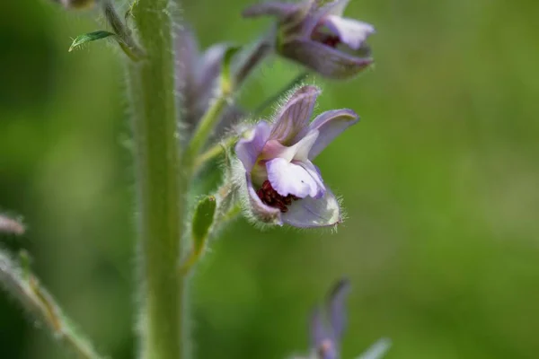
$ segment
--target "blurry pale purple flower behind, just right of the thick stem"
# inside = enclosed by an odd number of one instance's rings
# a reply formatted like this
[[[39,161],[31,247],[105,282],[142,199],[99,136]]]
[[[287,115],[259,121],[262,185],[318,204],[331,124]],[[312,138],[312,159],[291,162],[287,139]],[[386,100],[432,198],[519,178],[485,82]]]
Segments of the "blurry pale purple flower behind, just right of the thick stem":
[[[182,28],[176,39],[176,48],[178,49],[176,83],[182,102],[181,120],[188,126],[188,130],[192,131],[216,95],[221,64],[228,45],[218,43],[200,54],[193,32]],[[229,106],[225,109],[215,132],[222,132],[226,126],[233,124],[241,116],[240,109]]]

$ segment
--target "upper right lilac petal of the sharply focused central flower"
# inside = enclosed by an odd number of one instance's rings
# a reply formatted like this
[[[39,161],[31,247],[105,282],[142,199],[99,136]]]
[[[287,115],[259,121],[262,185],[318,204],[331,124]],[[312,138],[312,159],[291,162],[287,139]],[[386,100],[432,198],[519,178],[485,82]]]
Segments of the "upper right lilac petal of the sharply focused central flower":
[[[309,160],[314,160],[335,137],[358,121],[358,114],[351,109],[333,109],[314,118],[309,130],[318,130],[319,134],[309,152]]]

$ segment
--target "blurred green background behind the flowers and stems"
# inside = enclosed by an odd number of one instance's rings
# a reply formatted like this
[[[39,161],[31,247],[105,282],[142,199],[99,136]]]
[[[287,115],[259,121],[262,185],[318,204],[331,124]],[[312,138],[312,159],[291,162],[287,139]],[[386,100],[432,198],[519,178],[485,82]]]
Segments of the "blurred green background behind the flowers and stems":
[[[248,0],[190,0],[204,47],[245,43],[269,22]],[[123,4],[121,9],[126,8]],[[344,358],[391,337],[388,358],[539,356],[539,3],[352,1],[376,25],[376,68],[324,88],[319,110],[362,121],[317,159],[343,196],[339,232],[258,232],[236,221],[194,278],[198,358],[284,358],[308,346],[307,317],[349,276]],[[128,103],[118,53],[71,38],[96,13],[0,2],[0,210],[23,215],[33,267],[113,358],[134,356],[136,278]],[[241,103],[253,109],[300,71],[271,59]],[[61,358],[0,295],[0,356]]]

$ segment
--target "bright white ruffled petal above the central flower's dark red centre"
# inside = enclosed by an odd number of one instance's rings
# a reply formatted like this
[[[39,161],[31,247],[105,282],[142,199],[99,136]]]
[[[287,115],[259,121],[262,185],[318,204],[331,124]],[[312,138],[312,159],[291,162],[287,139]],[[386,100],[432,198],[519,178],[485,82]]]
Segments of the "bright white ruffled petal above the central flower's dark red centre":
[[[283,197],[322,197],[325,191],[316,171],[306,171],[303,165],[276,158],[266,163],[271,187]]]

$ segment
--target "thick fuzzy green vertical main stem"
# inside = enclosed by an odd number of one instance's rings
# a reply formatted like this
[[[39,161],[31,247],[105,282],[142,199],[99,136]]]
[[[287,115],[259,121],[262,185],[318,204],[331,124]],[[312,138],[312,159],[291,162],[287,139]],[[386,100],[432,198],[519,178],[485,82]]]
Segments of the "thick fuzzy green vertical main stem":
[[[168,0],[133,6],[146,58],[128,64],[137,162],[137,222],[142,276],[140,357],[185,358],[181,256],[183,199],[174,98],[172,21]]]

